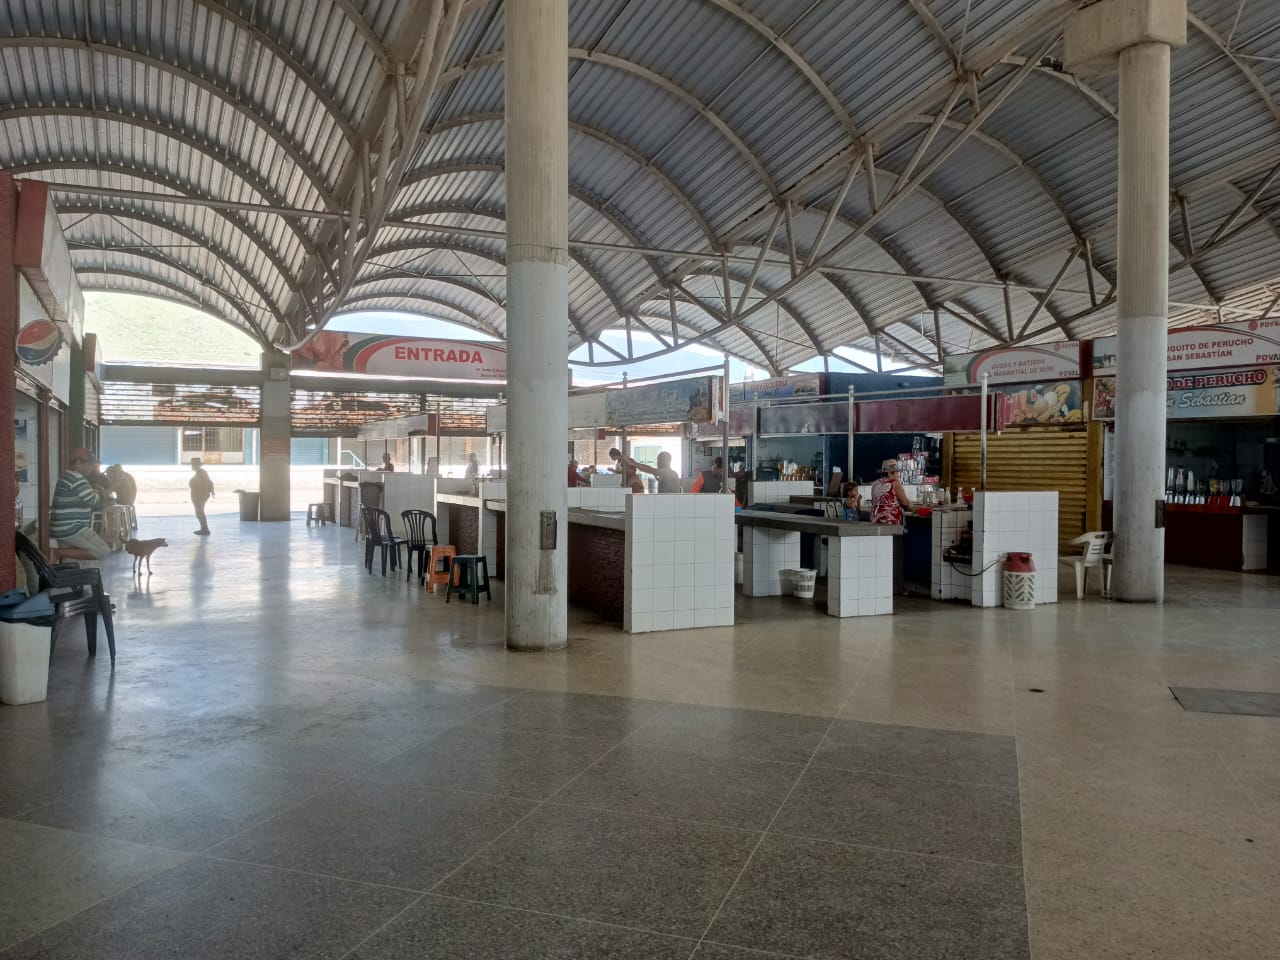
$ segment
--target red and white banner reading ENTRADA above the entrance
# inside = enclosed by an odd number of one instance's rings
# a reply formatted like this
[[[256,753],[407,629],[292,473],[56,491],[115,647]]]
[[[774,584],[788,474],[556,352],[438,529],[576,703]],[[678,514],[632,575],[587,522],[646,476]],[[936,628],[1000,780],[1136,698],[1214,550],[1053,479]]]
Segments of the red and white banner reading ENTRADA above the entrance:
[[[430,380],[506,380],[507,348],[502,343],[324,330],[293,352],[293,369]]]

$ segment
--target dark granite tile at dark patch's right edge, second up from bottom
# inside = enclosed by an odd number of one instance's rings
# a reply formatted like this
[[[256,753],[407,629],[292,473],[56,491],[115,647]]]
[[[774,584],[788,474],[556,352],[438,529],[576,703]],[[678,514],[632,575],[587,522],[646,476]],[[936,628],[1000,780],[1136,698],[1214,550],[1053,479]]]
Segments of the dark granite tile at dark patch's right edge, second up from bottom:
[[[810,765],[771,827],[814,840],[1021,865],[1018,791]]]

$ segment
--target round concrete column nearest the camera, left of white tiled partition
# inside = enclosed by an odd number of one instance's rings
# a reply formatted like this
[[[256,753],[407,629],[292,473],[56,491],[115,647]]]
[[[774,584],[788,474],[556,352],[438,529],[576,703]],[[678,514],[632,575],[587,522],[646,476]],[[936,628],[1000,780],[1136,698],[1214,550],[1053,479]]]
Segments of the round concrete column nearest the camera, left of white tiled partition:
[[[568,0],[508,3],[506,45],[507,646],[554,650],[568,639]]]

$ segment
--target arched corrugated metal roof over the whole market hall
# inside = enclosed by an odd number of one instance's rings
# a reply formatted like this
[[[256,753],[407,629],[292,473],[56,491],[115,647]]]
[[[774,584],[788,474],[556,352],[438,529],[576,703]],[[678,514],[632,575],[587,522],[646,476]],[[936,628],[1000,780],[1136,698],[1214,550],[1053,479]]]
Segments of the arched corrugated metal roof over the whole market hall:
[[[1171,261],[1192,257],[1171,278],[1175,324],[1265,308],[1280,284],[1280,177],[1268,177],[1280,31],[1268,4],[1188,5],[1171,187],[1194,250],[1175,206]],[[500,334],[497,0],[465,5],[408,141],[393,223],[349,284],[339,275],[344,229],[332,216],[361,188],[362,143],[376,164],[388,78],[403,72],[415,92],[434,6],[12,0],[0,8],[0,168],[63,184],[87,287],[204,305],[264,343],[296,342],[317,296],[333,311],[435,314]],[[572,0],[570,14],[575,344],[628,316],[669,342],[675,294],[682,340],[771,369],[873,346],[877,332],[923,362],[936,355],[933,306],[946,307],[945,349],[989,346],[1007,338],[1002,284],[1019,333],[1060,273],[1028,335],[1114,328],[1116,81],[1023,67],[1056,52],[1056,0]],[[968,86],[950,100],[957,63],[979,76],[977,104]],[[861,166],[846,179],[850,163]]]

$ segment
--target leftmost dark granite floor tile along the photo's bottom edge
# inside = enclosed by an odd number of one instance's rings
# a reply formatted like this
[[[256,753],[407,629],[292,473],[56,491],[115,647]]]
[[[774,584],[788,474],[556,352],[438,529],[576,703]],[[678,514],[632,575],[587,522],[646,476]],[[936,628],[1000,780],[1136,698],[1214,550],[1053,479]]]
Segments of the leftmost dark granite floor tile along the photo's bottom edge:
[[[196,858],[23,941],[5,960],[337,960],[416,893]]]

